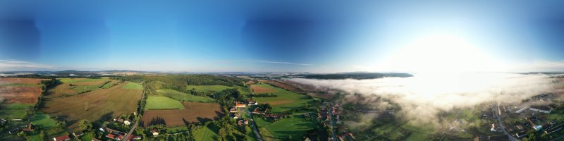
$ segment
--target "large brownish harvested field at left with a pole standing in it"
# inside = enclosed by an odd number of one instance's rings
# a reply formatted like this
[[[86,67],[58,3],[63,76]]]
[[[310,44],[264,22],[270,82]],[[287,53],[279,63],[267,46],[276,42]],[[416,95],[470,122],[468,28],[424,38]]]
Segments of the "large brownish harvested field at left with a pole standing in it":
[[[123,89],[126,83],[70,97],[46,98],[41,110],[46,114],[66,118],[68,128],[73,130],[78,130],[78,121],[81,119],[97,121],[131,114],[137,109],[142,90]]]

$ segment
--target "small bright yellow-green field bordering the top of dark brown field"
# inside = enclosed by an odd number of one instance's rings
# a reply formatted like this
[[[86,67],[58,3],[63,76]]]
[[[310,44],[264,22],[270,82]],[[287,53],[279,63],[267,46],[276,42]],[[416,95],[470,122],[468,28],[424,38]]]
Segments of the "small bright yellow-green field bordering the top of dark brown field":
[[[150,109],[184,109],[184,105],[168,97],[149,96],[145,110]]]

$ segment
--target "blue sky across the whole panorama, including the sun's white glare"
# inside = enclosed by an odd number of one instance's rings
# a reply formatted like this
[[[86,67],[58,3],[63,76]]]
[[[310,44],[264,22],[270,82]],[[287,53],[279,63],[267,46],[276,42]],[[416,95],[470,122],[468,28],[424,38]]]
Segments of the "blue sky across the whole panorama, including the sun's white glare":
[[[0,71],[564,71],[558,1],[0,3]]]

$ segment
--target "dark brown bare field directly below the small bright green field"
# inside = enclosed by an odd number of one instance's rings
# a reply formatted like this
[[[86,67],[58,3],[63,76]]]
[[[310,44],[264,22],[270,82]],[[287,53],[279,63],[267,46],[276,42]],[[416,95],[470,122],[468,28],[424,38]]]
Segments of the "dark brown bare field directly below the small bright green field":
[[[182,110],[149,110],[145,111],[142,125],[164,124],[168,127],[186,125],[186,123],[197,123],[216,120],[223,116],[219,104],[182,102],[185,109]]]

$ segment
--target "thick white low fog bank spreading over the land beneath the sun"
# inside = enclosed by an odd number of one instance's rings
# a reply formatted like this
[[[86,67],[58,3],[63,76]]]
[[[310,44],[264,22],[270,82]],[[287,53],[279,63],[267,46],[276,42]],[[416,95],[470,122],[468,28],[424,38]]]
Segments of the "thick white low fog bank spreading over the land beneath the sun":
[[[417,123],[436,123],[439,111],[468,108],[484,102],[522,102],[542,92],[553,92],[549,75],[513,73],[415,74],[410,78],[371,80],[314,80],[291,78],[294,82],[348,93],[345,102],[386,109],[390,99],[401,106],[398,114]]]

